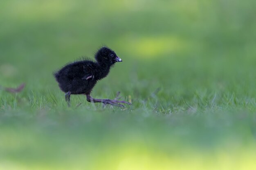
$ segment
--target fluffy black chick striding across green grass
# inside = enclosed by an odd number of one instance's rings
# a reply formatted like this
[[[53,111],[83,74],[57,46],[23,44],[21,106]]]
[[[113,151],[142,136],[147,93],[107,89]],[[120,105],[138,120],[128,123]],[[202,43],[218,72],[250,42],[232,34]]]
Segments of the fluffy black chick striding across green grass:
[[[90,96],[92,88],[97,81],[106,77],[110,67],[116,62],[122,62],[117,54],[107,47],[102,47],[95,54],[96,62],[90,60],[75,61],[65,65],[61,70],[54,72],[56,81],[63,92],[65,100],[70,107],[71,94],[85,94],[88,102],[101,102],[103,106],[110,104],[124,107],[119,103],[131,105],[131,103],[120,100],[95,99]]]

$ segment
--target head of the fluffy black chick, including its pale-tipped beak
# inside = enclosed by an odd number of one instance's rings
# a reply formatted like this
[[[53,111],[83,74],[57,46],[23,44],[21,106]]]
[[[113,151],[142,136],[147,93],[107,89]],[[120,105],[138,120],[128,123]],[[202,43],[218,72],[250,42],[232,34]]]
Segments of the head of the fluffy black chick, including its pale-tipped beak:
[[[108,47],[101,47],[95,54],[95,59],[99,63],[106,63],[110,65],[113,65],[116,62],[122,62],[117,54]]]

